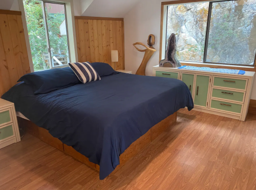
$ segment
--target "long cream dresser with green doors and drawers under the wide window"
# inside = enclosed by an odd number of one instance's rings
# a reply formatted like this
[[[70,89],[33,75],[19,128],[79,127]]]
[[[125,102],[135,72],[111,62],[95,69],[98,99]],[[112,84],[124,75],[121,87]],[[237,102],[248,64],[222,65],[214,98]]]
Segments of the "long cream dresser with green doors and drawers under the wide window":
[[[244,75],[153,67],[153,76],[176,78],[188,87],[194,110],[245,121],[255,72]]]

